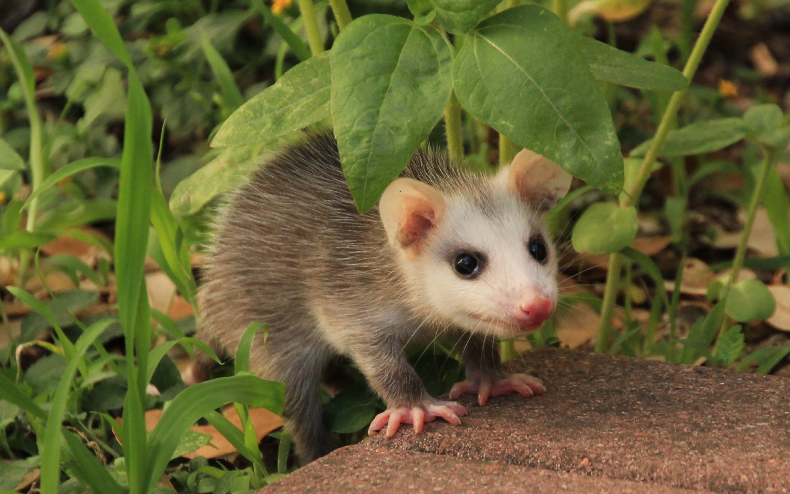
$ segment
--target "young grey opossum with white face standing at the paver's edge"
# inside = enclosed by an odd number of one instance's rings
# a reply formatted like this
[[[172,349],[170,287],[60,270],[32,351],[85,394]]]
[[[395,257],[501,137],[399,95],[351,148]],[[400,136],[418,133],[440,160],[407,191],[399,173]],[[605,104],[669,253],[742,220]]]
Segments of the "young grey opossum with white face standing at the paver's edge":
[[[360,215],[337,142],[314,135],[254,172],[221,211],[198,338],[232,356],[250,323],[269,325],[250,369],[285,383],[286,428],[303,463],[333,449],[318,390],[336,354],[353,360],[388,407],[371,433],[386,426],[393,436],[400,424],[419,433],[437,417],[458,425],[466,413],[427,394],[404,356],[409,341],[456,341],[466,379],[450,399],[477,394],[485,405],[499,394],[543,393],[539,379],[506,375],[498,338],[536,330],[554,311],[557,255],[541,213],[570,180],[527,150],[479,175],[425,149]]]

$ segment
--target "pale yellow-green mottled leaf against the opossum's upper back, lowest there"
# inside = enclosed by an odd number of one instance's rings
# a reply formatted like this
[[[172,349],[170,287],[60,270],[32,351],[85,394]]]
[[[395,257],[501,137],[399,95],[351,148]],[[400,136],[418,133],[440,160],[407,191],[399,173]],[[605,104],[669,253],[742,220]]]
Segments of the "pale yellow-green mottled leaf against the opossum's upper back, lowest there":
[[[239,108],[239,110],[242,110]],[[232,118],[232,117],[231,117]],[[274,156],[264,153],[261,161]],[[183,179],[170,196],[170,209],[179,216],[198,213],[213,198],[246,182],[247,175],[258,168],[250,150],[226,149],[203,168]]]

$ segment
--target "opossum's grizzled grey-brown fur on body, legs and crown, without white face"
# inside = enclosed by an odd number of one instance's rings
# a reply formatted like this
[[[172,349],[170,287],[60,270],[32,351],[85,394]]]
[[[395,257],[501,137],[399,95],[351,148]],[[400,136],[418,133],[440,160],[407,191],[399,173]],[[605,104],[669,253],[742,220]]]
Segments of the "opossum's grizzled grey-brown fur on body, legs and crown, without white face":
[[[419,151],[402,176],[461,191],[481,211],[487,181]],[[232,355],[251,322],[270,326],[254,342],[250,369],[286,386],[285,418],[302,462],[332,449],[318,386],[330,355],[344,353],[388,406],[427,403],[404,358],[416,333],[453,330],[468,371],[501,374],[493,338],[448,328],[414,310],[378,209],[359,215],[337,145],[321,134],[254,172],[220,215],[205,267],[199,338]]]

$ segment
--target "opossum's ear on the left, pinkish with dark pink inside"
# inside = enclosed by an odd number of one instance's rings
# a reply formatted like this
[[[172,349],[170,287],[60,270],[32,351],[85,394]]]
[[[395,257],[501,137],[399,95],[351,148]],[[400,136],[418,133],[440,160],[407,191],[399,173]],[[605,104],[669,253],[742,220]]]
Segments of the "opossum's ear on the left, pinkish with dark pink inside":
[[[389,243],[410,258],[419,254],[419,244],[442,221],[445,209],[441,192],[412,179],[390,183],[378,203]]]

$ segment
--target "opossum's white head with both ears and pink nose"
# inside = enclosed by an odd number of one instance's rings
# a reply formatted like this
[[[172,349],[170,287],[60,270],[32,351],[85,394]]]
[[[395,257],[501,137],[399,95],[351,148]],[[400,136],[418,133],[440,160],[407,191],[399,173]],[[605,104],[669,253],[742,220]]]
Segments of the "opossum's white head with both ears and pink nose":
[[[518,153],[482,187],[454,194],[397,179],[379,211],[423,310],[466,330],[513,338],[557,304],[557,255],[540,221],[570,187],[543,156]]]

